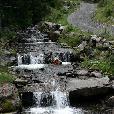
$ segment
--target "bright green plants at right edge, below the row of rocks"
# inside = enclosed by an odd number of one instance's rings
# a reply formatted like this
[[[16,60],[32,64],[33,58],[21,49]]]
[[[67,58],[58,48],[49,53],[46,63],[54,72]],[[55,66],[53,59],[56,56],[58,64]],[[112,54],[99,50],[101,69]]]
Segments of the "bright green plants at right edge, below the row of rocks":
[[[94,49],[94,57],[90,59],[86,56],[81,63],[81,67],[96,69],[106,75],[114,75],[114,55],[110,51]]]

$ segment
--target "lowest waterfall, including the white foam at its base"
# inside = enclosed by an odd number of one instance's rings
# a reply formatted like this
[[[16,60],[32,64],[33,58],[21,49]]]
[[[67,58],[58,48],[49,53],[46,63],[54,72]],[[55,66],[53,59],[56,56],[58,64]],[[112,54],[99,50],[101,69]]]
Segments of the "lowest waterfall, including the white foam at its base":
[[[37,106],[27,110],[27,114],[84,114],[81,109],[69,107],[65,92],[34,92],[34,98]]]

